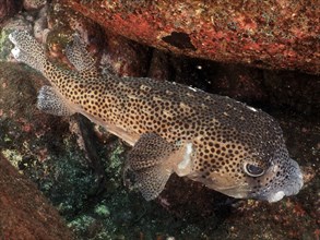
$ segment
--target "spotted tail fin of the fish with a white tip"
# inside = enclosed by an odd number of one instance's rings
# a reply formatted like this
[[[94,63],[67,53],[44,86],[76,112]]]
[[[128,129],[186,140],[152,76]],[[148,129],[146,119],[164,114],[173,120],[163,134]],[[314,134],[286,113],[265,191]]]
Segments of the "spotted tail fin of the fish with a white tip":
[[[15,46],[11,52],[17,61],[44,72],[47,61],[44,47],[29,33],[26,31],[14,31],[9,35],[9,39]]]

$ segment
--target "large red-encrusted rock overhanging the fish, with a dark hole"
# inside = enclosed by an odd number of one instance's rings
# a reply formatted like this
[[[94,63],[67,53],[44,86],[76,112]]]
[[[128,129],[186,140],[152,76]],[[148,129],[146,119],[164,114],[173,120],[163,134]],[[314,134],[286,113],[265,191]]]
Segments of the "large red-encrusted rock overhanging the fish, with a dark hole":
[[[106,29],[176,53],[320,73],[317,1],[58,2]]]

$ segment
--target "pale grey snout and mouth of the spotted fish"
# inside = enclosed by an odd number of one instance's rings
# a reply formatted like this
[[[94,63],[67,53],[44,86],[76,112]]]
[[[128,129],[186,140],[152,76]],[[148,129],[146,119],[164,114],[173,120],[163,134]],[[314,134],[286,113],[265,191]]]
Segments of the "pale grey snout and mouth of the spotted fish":
[[[282,179],[275,178],[274,184],[258,193],[254,199],[277,202],[284,196],[296,195],[304,185],[304,177],[297,161],[289,159],[288,173]]]

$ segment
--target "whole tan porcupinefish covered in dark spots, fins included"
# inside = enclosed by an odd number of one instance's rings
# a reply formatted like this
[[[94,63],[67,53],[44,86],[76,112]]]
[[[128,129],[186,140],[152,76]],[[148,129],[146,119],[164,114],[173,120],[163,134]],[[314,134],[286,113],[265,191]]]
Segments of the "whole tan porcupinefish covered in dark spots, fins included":
[[[123,175],[133,173],[146,200],[174,172],[237,199],[275,202],[301,189],[282,130],[262,110],[173,82],[102,75],[76,36],[66,49],[75,70],[52,64],[26,32],[10,39],[14,58],[50,82],[39,91],[40,110],[80,112],[133,146]]]

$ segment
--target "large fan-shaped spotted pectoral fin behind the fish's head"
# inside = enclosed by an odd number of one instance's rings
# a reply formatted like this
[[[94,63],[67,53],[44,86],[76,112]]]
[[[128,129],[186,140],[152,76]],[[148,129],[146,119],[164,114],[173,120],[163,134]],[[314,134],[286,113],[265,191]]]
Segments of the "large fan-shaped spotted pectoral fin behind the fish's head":
[[[135,143],[126,163],[123,178],[133,173],[133,187],[145,200],[158,196],[178,163],[183,160],[186,146],[168,143],[155,133],[144,133]]]

